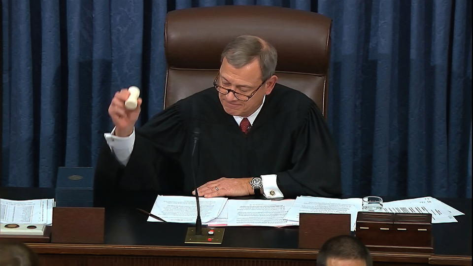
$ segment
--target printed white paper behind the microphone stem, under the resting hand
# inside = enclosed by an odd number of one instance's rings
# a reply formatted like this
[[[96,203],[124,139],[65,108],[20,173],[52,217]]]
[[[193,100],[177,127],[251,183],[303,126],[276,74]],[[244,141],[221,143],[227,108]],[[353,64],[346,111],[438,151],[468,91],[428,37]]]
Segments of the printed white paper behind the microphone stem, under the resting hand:
[[[199,198],[202,223],[218,217],[227,198]],[[197,203],[195,197],[158,196],[151,213],[171,223],[195,223]],[[148,222],[159,222],[149,217]]]

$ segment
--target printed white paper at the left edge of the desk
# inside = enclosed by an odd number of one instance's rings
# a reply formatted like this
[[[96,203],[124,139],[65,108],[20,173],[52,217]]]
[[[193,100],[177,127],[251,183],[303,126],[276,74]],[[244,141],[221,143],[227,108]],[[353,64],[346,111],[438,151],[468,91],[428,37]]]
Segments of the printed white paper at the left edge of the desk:
[[[54,199],[0,199],[0,222],[51,225],[54,205]]]

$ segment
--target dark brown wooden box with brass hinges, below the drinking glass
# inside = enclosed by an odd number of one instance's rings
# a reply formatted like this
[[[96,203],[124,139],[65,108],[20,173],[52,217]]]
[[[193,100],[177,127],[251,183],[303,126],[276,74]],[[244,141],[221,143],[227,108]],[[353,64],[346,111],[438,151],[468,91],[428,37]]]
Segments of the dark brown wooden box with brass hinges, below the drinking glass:
[[[356,236],[372,251],[433,253],[432,214],[359,212]]]

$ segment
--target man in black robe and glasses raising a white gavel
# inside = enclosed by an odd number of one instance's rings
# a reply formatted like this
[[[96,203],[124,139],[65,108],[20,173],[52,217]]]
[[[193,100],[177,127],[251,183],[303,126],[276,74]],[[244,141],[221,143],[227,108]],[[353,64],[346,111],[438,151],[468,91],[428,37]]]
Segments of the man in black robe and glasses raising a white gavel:
[[[340,162],[324,118],[303,93],[277,84],[277,53],[265,40],[237,37],[222,53],[214,87],[180,100],[135,131],[136,110],[115,94],[115,125],[97,166],[98,188],[194,190],[203,197],[338,197]],[[180,171],[169,171],[177,165]],[[172,169],[172,168],[171,168]],[[193,192],[194,193],[194,192]]]

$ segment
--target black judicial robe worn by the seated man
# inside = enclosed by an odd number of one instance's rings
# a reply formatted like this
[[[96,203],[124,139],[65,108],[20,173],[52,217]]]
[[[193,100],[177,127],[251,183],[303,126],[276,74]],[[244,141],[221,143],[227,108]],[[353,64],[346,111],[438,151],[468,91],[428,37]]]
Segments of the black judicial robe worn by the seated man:
[[[280,84],[266,96],[247,135],[224,111],[214,88],[176,102],[136,130],[127,166],[108,146],[102,148],[96,186],[190,195],[196,128],[198,186],[220,177],[277,174],[285,198],[341,195],[338,152],[320,110],[303,93]]]

